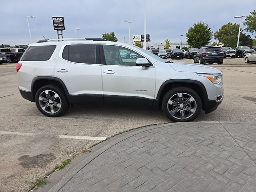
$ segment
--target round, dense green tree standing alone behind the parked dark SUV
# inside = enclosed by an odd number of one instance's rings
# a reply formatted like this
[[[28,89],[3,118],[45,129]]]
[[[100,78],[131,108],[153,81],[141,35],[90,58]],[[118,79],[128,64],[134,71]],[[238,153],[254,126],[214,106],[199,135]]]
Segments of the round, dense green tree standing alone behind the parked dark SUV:
[[[200,48],[210,43],[212,28],[204,22],[195,23],[186,33],[186,38],[190,47]]]

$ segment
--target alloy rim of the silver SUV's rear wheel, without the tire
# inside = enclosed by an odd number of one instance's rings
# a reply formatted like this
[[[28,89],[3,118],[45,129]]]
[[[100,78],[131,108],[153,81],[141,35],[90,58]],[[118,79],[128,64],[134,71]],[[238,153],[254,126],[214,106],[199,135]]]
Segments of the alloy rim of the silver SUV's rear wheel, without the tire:
[[[52,90],[44,90],[38,97],[38,102],[42,110],[48,114],[57,113],[61,106],[60,96]]]

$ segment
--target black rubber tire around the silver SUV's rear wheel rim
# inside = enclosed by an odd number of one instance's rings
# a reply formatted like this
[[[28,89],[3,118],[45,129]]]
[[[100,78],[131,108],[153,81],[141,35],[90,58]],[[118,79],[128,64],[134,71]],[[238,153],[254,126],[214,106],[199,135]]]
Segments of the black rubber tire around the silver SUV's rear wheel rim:
[[[56,101],[56,103],[59,102],[61,106],[59,108],[57,108],[58,110],[55,113],[49,113],[49,112],[46,112],[46,110],[43,110],[41,106],[42,106],[42,102],[45,102],[45,101],[39,102],[39,96],[46,90],[48,90],[50,92],[55,92],[56,94],[58,94],[58,97],[60,99],[59,100],[60,102]],[[46,99],[47,99],[47,97],[46,97]],[[36,106],[37,106],[38,110],[42,114],[44,114],[45,116],[48,116],[48,117],[62,116],[64,113],[67,112],[67,110],[70,107],[70,104],[68,102],[68,99],[66,97],[66,94],[65,94],[64,90],[60,86],[56,86],[56,85],[53,85],[53,84],[42,86],[40,89],[38,89],[38,91],[36,92],[35,101],[36,101]],[[55,102],[55,100],[54,100],[54,102]],[[52,104],[54,104],[54,102],[52,102]],[[47,104],[47,102],[45,102],[44,104]],[[49,103],[48,103],[48,106],[46,106],[45,109],[47,109],[48,107],[50,109]]]

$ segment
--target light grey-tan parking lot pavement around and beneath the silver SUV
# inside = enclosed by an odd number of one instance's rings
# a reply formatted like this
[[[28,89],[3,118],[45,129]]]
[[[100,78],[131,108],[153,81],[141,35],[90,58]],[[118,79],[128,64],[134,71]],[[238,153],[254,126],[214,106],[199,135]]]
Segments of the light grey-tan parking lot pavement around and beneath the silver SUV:
[[[60,118],[43,116],[34,103],[20,96],[15,66],[0,65],[0,191],[26,191],[26,182],[46,176],[57,163],[100,142],[86,136],[108,138],[170,122],[161,110],[122,106],[74,106]],[[216,111],[201,112],[196,121],[255,122],[256,64],[226,58],[222,66],[213,66],[224,74],[224,100]]]

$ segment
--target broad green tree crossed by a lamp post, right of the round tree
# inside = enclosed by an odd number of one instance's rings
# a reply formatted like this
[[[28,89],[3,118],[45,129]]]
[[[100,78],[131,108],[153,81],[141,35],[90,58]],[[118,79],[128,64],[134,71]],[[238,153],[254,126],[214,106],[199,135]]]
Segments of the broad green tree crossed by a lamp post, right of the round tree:
[[[228,24],[222,25],[222,27],[214,33],[214,38],[222,42],[224,46],[236,48],[238,30],[239,24],[229,22]],[[240,30],[239,45],[252,46],[252,38],[250,35],[246,36],[242,29]]]

